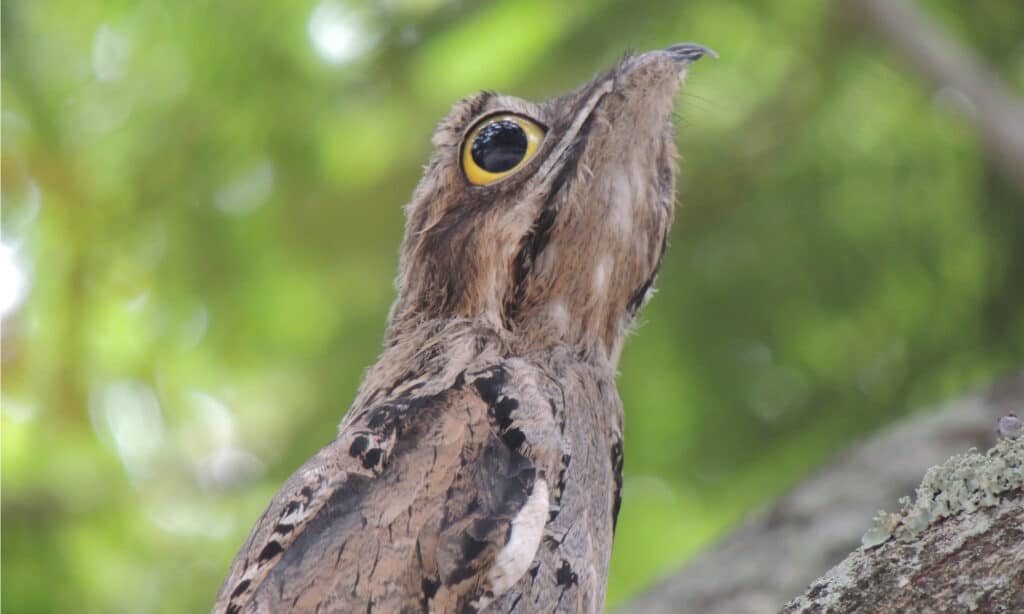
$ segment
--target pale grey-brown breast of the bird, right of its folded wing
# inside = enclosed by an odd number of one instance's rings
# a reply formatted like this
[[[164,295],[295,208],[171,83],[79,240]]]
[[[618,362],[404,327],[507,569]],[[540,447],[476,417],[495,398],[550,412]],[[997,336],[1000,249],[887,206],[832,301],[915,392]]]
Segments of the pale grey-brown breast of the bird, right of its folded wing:
[[[527,573],[487,612],[595,612],[604,604],[622,486],[622,403],[610,372],[557,352],[547,358],[506,361],[508,382],[488,399],[498,428],[522,432],[550,510]]]

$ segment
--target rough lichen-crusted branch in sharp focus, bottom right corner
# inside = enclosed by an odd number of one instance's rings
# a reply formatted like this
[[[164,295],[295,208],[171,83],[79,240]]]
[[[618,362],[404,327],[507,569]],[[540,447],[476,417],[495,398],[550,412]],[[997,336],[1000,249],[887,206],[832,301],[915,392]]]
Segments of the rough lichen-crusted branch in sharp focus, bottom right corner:
[[[786,613],[1024,611],[1024,439],[929,471]]]

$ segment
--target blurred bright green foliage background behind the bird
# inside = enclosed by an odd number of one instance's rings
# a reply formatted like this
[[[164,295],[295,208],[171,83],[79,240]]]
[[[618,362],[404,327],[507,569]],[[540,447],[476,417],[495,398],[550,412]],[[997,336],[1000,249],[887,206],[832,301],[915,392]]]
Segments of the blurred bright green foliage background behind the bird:
[[[1024,88],[1024,4],[919,4]],[[622,362],[610,604],[851,438],[1024,361],[1022,199],[956,93],[830,2],[8,0],[2,20],[27,291],[3,320],[7,611],[208,610],[375,359],[435,123],[627,48],[722,58],[679,99],[682,209]]]

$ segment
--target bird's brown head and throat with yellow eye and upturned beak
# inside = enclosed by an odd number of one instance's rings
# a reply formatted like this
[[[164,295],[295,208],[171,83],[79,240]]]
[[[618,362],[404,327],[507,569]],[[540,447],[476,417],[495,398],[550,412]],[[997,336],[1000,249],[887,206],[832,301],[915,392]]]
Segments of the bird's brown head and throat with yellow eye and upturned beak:
[[[672,224],[672,122],[694,44],[630,55],[578,90],[455,105],[410,203],[389,340],[468,318],[520,350],[617,361]]]

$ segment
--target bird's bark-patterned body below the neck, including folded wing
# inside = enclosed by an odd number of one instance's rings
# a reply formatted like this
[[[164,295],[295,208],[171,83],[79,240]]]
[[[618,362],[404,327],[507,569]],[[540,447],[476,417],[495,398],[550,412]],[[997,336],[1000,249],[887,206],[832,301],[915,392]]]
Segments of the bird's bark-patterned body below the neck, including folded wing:
[[[257,523],[223,611],[602,608],[622,469],[612,371],[474,339],[414,378],[371,372],[374,391]]]

